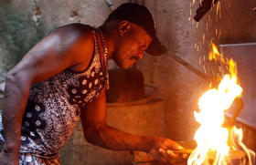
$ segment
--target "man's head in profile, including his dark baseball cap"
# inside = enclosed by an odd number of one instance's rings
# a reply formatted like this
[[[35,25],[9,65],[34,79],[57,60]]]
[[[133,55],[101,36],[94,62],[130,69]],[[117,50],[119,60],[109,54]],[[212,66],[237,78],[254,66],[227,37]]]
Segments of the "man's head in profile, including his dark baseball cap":
[[[127,3],[117,7],[104,24],[112,24],[117,35],[112,58],[118,66],[127,68],[143,57],[144,51],[152,56],[166,52],[155,36],[155,23],[143,5]]]

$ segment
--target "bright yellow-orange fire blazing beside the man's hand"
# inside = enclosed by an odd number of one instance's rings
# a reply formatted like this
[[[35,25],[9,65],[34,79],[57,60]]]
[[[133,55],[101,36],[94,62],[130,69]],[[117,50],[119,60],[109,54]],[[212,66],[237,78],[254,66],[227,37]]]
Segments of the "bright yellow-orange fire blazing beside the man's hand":
[[[199,112],[194,115],[200,127],[194,139],[197,149],[190,154],[188,165],[232,164],[231,154],[235,151],[244,153],[240,164],[254,164],[255,153],[242,143],[242,130],[236,127],[224,128],[224,112],[229,109],[235,98],[240,97],[242,88],[238,84],[237,66],[233,59],[225,59],[215,45],[209,53],[209,60],[225,63],[229,73],[221,77],[218,88],[210,88],[198,101]]]

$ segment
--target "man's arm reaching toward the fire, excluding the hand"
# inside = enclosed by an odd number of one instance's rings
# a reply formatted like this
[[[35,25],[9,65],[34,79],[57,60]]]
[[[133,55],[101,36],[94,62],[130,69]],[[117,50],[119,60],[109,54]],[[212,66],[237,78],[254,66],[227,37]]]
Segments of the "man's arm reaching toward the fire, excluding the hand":
[[[149,152],[154,138],[137,136],[115,129],[106,123],[105,90],[81,111],[85,138],[98,146],[110,150],[141,150]]]

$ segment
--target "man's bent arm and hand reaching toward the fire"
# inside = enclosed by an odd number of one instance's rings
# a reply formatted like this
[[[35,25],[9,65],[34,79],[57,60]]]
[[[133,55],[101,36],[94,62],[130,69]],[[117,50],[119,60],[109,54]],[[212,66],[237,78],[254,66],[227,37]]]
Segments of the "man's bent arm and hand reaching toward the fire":
[[[156,160],[172,161],[178,159],[173,150],[181,150],[171,139],[138,136],[115,129],[106,123],[105,88],[101,94],[81,111],[85,138],[92,144],[110,150],[140,150],[150,153]]]

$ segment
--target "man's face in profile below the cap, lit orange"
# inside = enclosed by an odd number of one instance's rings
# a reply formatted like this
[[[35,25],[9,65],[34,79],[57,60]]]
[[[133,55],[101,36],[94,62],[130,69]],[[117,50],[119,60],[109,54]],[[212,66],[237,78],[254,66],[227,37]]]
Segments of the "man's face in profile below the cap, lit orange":
[[[119,37],[114,62],[122,68],[133,66],[144,55],[144,50],[150,45],[152,37],[141,26],[131,23],[129,32]]]

